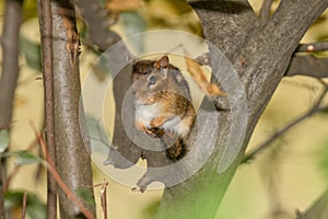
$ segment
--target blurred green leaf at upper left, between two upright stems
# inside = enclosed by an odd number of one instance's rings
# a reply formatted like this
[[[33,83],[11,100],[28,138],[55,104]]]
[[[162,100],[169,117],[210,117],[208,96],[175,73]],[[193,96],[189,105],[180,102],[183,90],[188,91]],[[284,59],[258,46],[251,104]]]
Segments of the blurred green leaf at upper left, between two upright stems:
[[[27,66],[42,72],[40,44],[21,35],[21,46],[26,58]]]

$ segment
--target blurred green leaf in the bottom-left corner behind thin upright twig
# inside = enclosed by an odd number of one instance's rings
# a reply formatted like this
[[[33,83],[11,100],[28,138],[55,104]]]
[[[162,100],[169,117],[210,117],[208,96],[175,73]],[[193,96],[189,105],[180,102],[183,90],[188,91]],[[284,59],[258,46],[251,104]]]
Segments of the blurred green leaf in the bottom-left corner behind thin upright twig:
[[[23,206],[24,192],[9,191],[4,194],[4,208],[13,210]],[[47,218],[47,206],[35,194],[27,193],[26,211],[30,218]]]

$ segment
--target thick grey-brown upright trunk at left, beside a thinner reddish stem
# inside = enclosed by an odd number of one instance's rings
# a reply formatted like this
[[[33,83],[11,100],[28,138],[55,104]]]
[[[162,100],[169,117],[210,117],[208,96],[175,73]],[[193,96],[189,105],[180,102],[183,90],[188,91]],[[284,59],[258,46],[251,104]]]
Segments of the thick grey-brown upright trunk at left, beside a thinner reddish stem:
[[[57,169],[75,195],[86,187],[93,196],[92,169],[82,131],[83,111],[79,72],[80,42],[72,1],[51,1],[54,47],[55,143]],[[83,132],[84,134],[84,132]],[[95,216],[94,205],[82,200]],[[61,218],[80,218],[82,212],[59,189]]]

